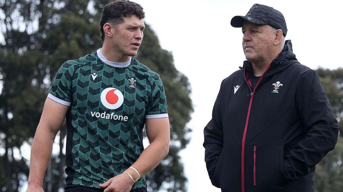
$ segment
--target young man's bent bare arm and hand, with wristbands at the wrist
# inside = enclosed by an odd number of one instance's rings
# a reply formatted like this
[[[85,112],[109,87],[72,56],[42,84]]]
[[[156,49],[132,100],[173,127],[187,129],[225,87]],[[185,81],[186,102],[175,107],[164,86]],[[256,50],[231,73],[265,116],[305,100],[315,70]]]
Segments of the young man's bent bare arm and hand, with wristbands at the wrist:
[[[142,152],[138,160],[132,165],[139,174],[144,176],[153,170],[169,151],[169,119],[146,119],[146,135],[150,145]],[[126,173],[113,177],[99,186],[108,191],[130,191],[133,182]]]

